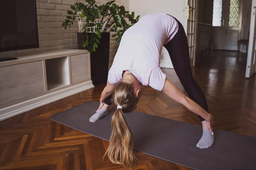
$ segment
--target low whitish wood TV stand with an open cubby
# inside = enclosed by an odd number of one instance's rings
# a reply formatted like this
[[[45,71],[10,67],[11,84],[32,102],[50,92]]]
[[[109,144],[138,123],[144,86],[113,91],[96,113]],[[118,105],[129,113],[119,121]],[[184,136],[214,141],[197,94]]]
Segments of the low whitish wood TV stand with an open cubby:
[[[15,57],[0,62],[0,121],[94,87],[86,50]]]

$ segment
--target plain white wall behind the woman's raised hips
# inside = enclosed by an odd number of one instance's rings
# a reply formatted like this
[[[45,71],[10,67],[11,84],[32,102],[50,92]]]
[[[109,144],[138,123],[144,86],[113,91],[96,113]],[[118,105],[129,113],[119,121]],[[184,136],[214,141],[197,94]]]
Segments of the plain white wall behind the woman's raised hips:
[[[184,26],[187,21],[186,12],[184,12],[185,3],[186,0],[130,0],[129,11],[134,11],[135,16],[140,15],[140,17],[155,13],[170,14]],[[160,67],[173,68],[169,53],[164,47],[160,56],[160,62]]]

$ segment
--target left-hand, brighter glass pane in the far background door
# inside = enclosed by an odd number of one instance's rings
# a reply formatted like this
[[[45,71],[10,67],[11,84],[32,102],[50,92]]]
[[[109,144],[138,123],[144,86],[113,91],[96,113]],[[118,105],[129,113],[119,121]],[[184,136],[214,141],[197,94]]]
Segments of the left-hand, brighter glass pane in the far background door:
[[[213,0],[212,26],[221,26],[222,0]]]

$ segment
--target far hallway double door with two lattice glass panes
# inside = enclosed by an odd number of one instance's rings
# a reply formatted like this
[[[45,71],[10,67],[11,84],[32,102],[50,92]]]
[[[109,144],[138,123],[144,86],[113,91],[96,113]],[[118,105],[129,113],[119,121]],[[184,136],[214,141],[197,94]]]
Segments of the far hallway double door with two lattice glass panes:
[[[237,50],[241,31],[241,0],[214,0],[212,26],[214,48]]]

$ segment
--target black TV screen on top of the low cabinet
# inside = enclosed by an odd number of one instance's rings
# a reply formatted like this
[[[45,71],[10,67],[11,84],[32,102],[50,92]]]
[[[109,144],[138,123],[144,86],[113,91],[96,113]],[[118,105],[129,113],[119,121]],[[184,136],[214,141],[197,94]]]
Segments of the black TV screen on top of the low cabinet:
[[[35,0],[1,0],[0,51],[38,48]]]

